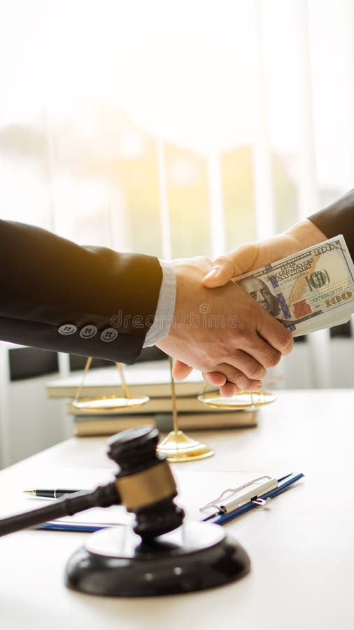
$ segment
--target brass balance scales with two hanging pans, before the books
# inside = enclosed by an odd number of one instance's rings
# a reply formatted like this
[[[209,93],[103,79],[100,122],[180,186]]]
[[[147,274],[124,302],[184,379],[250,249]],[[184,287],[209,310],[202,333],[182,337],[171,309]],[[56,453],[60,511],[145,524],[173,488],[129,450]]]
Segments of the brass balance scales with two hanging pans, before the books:
[[[172,374],[172,358],[169,357],[169,367],[171,374],[171,403],[172,403],[172,420],[173,429],[168,433],[166,437],[160,442],[157,447],[157,452],[167,457],[168,461],[180,463],[183,461],[195,461],[199,459],[206,459],[214,455],[214,450],[204,444],[194,440],[192,437],[188,437],[183,431],[178,428],[178,410],[177,410],[177,396],[174,377]],[[141,407],[150,400],[148,395],[131,395],[129,386],[125,379],[125,373],[122,367],[122,363],[116,362],[115,365],[118,368],[120,374],[122,395],[110,395],[99,396],[92,398],[82,398],[81,392],[85,384],[85,377],[90,370],[92,363],[92,357],[88,357],[83,371],[83,378],[76,391],[75,398],[71,403],[73,407],[77,409],[90,409],[90,411],[97,410],[97,412],[107,411],[110,409],[112,413],[122,412],[123,409],[132,409],[132,407]],[[247,392],[242,391],[230,398],[225,398],[218,392],[206,391],[207,384],[204,383],[204,388],[201,394],[197,397],[199,402],[207,407],[213,407],[215,409],[234,409],[235,411],[254,411],[257,407],[268,405],[270,402],[276,400],[276,395],[270,391],[259,392]]]

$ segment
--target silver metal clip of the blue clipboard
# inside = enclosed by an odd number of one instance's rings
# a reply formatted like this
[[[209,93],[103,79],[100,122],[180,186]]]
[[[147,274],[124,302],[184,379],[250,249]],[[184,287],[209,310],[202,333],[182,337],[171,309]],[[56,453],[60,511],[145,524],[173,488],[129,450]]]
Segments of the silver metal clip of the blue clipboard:
[[[268,500],[264,500],[260,496],[277,487],[277,479],[269,477],[269,475],[263,475],[237,488],[227,488],[220,496],[206,503],[199,510],[206,512],[214,507],[217,510],[216,514],[229,514],[229,512],[237,510],[238,507],[246,505],[246,503],[255,503],[263,507],[268,503]]]

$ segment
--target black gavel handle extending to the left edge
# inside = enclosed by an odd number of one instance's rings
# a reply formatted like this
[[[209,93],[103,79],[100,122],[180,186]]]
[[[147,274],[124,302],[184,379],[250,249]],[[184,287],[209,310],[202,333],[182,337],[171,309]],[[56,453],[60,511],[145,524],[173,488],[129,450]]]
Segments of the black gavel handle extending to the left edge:
[[[72,516],[90,507],[109,507],[120,505],[121,500],[115,483],[98,486],[92,492],[75,492],[55,501],[52,505],[39,507],[38,510],[15,514],[15,516],[0,520],[0,536],[13,533],[26,527],[40,525],[45,521],[52,521],[60,517]]]

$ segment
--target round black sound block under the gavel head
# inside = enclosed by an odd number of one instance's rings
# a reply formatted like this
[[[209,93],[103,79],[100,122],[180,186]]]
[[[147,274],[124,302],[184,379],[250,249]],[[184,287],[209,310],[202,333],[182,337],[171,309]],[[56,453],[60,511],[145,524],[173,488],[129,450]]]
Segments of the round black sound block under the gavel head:
[[[249,570],[246,551],[218,525],[187,521],[151,542],[122,525],[90,535],[65,582],[92,595],[150,597],[221,586]]]

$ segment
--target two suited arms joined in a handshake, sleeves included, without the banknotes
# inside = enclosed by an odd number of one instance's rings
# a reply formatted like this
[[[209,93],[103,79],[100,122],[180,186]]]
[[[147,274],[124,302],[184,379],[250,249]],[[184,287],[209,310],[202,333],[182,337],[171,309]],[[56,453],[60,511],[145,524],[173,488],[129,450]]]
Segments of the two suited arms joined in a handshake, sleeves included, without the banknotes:
[[[267,369],[290,353],[292,336],[262,282],[232,279],[339,234],[354,260],[353,219],[354,189],[214,262],[80,246],[1,220],[0,339],[122,363],[155,344],[174,357],[178,380],[195,367],[222,395],[257,391]]]

